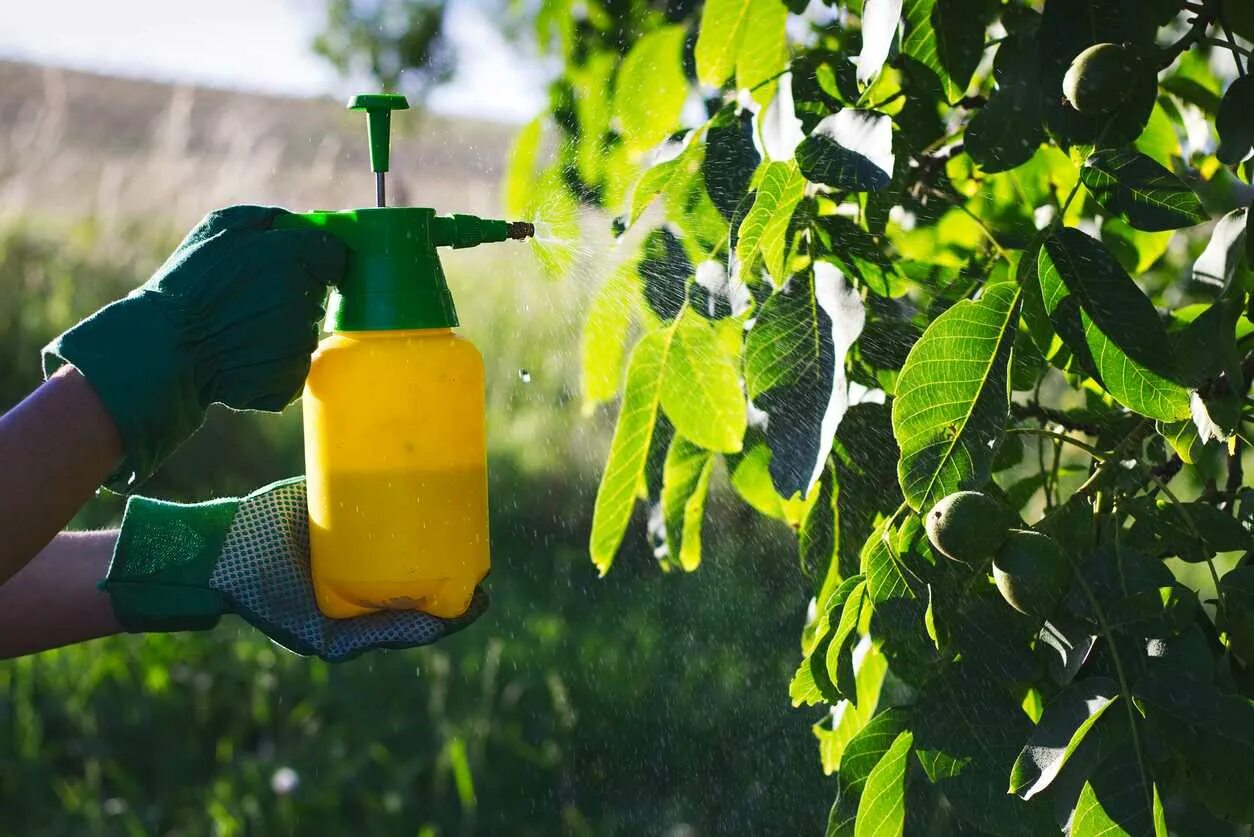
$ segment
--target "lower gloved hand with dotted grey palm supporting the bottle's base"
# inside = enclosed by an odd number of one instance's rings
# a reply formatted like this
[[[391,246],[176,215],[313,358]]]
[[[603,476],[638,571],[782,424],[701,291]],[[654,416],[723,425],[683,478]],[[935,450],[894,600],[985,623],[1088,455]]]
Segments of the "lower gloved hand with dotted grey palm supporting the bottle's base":
[[[233,612],[283,648],[331,663],[376,648],[428,645],[488,606],[478,590],[454,620],[416,611],[324,616],[310,580],[302,477],[240,499],[179,504],[132,497],[100,589],[132,632],[206,630]]]

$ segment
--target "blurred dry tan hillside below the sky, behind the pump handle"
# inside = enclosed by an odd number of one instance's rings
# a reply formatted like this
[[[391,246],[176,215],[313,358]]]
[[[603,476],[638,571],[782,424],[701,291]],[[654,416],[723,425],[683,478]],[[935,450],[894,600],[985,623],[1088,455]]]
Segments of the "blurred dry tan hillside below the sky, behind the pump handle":
[[[330,98],[0,61],[0,215],[186,227],[229,203],[369,206],[364,122]],[[394,120],[393,202],[495,212],[514,131],[408,112]]]

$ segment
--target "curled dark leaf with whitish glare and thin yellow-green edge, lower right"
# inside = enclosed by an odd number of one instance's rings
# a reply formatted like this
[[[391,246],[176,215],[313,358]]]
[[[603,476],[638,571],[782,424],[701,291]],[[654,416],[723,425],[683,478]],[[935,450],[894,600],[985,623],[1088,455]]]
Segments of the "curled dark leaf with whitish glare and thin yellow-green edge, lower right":
[[[1077,680],[1056,694],[1014,760],[1009,792],[1031,799],[1048,788],[1117,698],[1119,685],[1109,678]]]

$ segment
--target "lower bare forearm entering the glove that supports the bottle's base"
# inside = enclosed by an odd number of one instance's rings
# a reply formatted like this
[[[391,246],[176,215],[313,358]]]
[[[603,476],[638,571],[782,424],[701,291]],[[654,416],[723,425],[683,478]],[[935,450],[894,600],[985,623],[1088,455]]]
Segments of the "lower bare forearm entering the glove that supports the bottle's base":
[[[97,590],[118,540],[110,532],[61,532],[18,575],[0,584],[0,659],[120,631],[109,595]]]

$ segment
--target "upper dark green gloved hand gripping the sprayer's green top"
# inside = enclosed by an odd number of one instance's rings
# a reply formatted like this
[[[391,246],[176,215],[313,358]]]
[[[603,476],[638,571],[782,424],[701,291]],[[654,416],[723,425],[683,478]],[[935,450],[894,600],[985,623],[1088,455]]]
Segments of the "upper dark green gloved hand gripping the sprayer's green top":
[[[73,364],[113,417],[130,492],[204,420],[213,402],[281,410],[300,394],[344,245],[275,230],[286,210],[211,212],[144,285],[44,349],[44,374]]]

